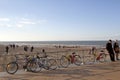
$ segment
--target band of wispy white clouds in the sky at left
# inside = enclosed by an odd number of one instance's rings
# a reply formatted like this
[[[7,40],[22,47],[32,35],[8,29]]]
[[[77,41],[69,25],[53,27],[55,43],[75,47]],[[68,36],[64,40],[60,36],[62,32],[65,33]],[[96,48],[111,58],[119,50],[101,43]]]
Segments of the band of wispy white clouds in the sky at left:
[[[3,22],[4,21],[4,22]],[[27,27],[31,25],[40,25],[47,22],[46,20],[33,20],[28,18],[0,18],[0,27]]]

